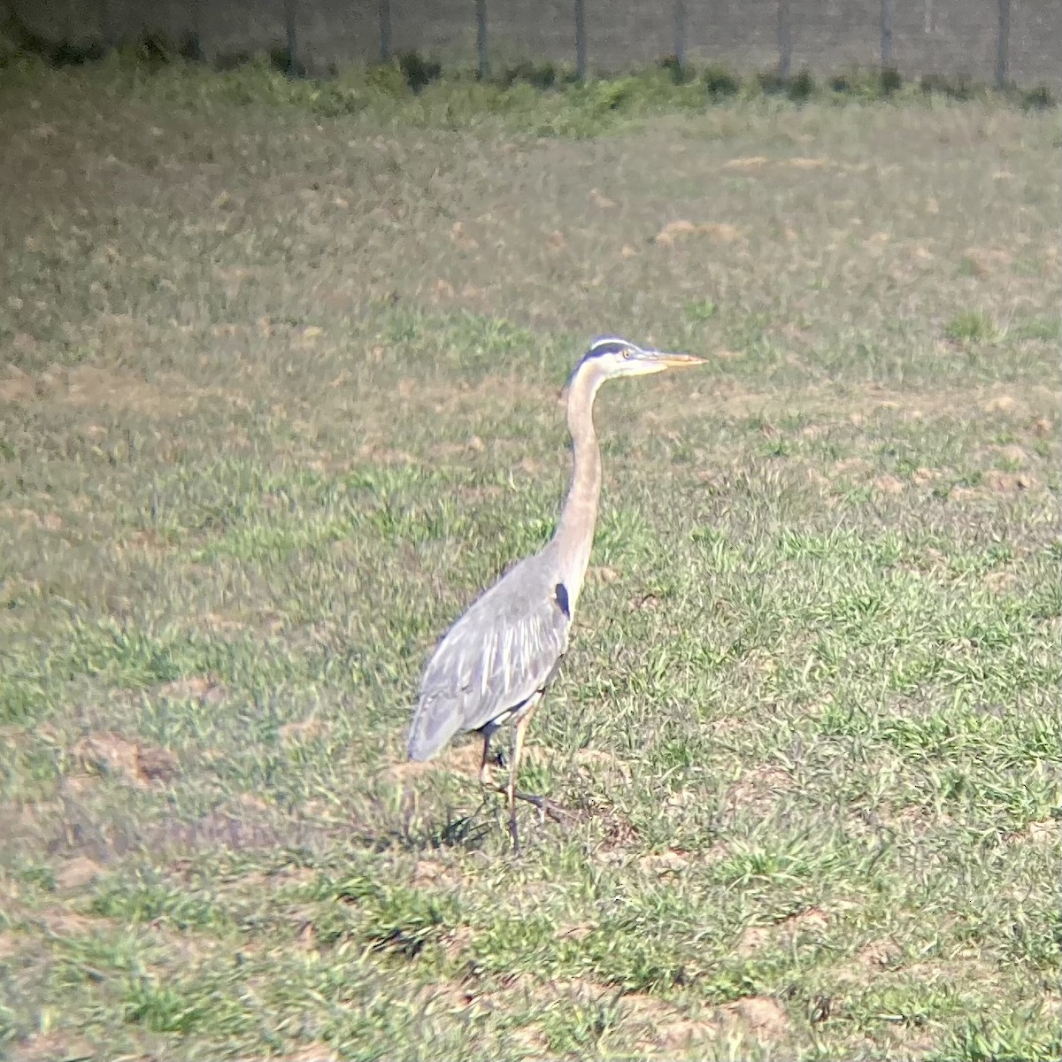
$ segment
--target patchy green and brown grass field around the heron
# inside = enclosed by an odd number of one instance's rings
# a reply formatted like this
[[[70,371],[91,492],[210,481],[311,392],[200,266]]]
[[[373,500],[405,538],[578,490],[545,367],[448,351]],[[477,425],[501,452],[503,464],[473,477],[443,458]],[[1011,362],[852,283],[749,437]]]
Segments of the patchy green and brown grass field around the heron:
[[[1057,115],[525,88],[5,71],[0,1054],[1057,1058]],[[598,332],[514,857],[405,731]]]

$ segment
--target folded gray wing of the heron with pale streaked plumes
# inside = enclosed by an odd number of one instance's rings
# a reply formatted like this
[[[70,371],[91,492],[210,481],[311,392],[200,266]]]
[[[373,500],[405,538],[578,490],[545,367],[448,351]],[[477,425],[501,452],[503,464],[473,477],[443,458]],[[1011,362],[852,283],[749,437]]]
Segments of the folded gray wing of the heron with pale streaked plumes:
[[[544,689],[568,648],[568,594],[543,554],[521,561],[450,628],[425,668],[409,736],[429,759]]]

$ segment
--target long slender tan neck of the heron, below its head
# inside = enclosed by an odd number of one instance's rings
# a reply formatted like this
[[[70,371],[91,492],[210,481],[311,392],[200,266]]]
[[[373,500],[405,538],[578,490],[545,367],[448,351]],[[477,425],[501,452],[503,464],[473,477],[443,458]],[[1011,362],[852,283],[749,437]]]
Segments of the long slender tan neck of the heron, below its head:
[[[594,433],[594,397],[601,377],[593,364],[583,364],[568,389],[568,431],[571,432],[571,486],[561,510],[553,541],[561,553],[570,607],[583,586],[594,546],[598,499],[601,495],[601,451]]]

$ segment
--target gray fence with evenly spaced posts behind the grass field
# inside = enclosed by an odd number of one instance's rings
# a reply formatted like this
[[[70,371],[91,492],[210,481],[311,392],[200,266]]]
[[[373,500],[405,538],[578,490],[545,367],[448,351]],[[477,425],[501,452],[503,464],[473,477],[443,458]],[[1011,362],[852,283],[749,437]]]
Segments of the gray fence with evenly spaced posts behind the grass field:
[[[193,40],[205,58],[287,49],[325,72],[404,52],[483,74],[519,62],[621,72],[665,56],[783,76],[886,66],[1062,87],[1062,0],[8,0],[50,39]]]

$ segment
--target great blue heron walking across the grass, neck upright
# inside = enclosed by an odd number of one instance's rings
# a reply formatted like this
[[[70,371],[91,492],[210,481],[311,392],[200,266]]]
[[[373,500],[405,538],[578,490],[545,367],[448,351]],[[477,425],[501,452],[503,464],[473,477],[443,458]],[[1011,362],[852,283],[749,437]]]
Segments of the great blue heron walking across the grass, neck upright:
[[[599,339],[576,366],[568,384],[571,486],[556,533],[482,594],[447,631],[421,681],[409,735],[410,759],[430,759],[458,732],[483,736],[480,781],[492,786],[491,738],[512,722],[509,761],[509,829],[519,849],[516,798],[539,807],[542,798],[516,792],[524,735],[546,686],[568,648],[568,630],[594,544],[601,494],[601,451],[594,432],[594,398],[605,380],[646,376],[704,363],[689,354],[645,350],[622,339]]]

